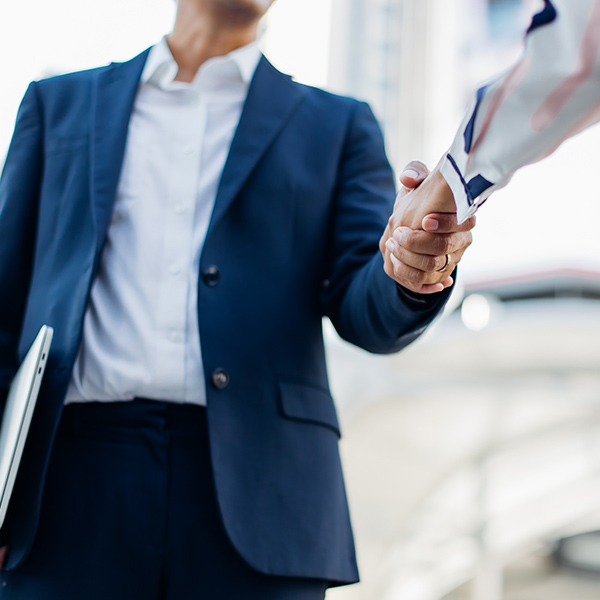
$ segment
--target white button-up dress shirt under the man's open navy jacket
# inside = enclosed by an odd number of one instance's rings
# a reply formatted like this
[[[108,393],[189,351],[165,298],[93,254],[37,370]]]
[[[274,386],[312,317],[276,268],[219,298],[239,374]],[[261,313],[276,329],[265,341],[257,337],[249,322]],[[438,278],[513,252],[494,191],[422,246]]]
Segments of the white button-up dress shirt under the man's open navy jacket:
[[[206,403],[200,255],[260,56],[250,44],[210,59],[188,84],[166,40],[151,49],[67,403]]]

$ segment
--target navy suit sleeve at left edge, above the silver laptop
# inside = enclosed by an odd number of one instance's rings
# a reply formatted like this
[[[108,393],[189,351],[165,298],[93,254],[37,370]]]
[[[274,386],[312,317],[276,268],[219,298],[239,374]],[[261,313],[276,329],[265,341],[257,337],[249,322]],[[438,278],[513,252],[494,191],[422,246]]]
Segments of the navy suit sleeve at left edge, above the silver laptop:
[[[31,84],[0,179],[0,401],[17,369],[17,341],[31,276],[42,165],[41,111]]]

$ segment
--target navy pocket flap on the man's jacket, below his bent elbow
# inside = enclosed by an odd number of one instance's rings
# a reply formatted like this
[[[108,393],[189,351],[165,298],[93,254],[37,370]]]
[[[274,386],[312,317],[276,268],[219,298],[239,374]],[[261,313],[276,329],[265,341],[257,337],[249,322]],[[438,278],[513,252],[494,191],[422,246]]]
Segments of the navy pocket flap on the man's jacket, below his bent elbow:
[[[333,398],[325,390],[310,385],[279,382],[279,398],[286,417],[323,425],[340,435]]]

